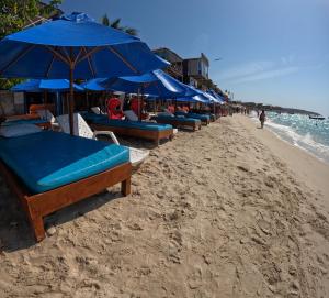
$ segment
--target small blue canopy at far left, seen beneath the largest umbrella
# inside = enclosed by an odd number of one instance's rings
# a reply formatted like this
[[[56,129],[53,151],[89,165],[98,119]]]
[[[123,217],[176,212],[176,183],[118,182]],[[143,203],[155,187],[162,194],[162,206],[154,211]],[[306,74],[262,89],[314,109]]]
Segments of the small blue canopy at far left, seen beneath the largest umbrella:
[[[83,91],[83,88],[75,84],[76,91]],[[70,89],[70,82],[67,79],[29,79],[11,88],[14,92],[43,92],[48,91],[67,91]]]

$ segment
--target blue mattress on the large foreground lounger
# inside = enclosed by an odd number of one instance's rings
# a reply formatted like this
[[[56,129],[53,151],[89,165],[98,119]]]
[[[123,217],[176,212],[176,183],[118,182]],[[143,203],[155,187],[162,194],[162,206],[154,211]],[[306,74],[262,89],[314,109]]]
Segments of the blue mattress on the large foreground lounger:
[[[43,131],[0,137],[0,158],[33,192],[44,192],[129,161],[126,147]]]

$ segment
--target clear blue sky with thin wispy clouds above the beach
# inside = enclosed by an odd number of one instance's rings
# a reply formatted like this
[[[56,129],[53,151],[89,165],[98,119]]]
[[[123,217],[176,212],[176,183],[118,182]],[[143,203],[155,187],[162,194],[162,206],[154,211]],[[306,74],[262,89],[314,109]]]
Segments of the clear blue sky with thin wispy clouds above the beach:
[[[205,53],[211,78],[237,100],[329,115],[329,0],[64,0],[60,8],[122,18],[151,48]]]

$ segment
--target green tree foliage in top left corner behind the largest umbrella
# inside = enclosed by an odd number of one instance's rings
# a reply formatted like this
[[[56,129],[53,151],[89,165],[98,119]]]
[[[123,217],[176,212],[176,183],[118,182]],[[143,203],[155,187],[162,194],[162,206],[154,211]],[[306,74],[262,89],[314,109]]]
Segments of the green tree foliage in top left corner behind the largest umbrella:
[[[0,0],[0,40],[22,30],[37,15],[48,18],[60,3],[61,0],[53,0],[44,5],[37,0]],[[9,89],[19,81],[0,79],[0,89]]]

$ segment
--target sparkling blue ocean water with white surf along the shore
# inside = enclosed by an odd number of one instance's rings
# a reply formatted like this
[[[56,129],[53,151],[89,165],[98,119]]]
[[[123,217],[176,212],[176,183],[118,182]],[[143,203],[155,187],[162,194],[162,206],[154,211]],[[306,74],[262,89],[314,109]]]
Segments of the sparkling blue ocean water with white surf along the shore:
[[[314,120],[308,115],[268,112],[265,128],[280,139],[329,164],[328,118]]]

